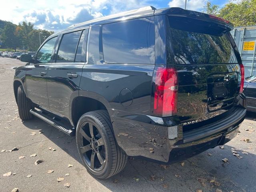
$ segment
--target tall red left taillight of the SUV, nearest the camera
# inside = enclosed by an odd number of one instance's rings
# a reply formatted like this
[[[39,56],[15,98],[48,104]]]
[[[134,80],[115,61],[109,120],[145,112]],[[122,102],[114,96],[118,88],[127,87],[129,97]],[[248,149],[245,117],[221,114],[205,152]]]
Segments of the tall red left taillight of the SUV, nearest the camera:
[[[156,67],[154,72],[155,116],[173,116],[177,113],[178,76],[175,68]]]

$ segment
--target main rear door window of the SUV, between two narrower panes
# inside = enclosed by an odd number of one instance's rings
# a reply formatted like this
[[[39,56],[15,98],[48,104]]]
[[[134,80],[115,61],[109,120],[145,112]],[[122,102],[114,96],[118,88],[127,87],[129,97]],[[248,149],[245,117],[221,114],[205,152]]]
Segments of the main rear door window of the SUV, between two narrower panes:
[[[76,31],[62,36],[56,63],[74,62],[76,47],[80,38],[81,31]]]

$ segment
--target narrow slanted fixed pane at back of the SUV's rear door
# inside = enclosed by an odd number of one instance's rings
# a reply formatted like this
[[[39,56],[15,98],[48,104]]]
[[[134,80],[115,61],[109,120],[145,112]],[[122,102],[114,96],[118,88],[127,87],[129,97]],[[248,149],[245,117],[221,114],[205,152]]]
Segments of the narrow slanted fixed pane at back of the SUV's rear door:
[[[87,46],[87,36],[89,28],[83,30],[82,35],[79,40],[79,44],[76,51],[75,62],[85,62],[86,60],[86,46]]]

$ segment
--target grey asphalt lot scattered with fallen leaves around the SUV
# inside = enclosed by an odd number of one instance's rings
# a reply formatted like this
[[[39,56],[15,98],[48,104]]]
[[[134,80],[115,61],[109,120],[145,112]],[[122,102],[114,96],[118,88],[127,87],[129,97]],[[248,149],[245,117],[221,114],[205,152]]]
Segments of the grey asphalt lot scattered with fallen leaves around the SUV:
[[[247,114],[238,136],[223,149],[216,147],[185,160],[184,164],[170,166],[130,158],[121,173],[98,180],[82,166],[74,137],[38,118],[22,122],[18,117],[12,88],[13,68],[24,64],[0,58],[0,192],[11,192],[14,188],[20,192],[256,191],[255,113]],[[49,150],[50,147],[56,150]],[[18,150],[8,151],[13,148]],[[232,148],[239,149],[235,152],[240,156],[232,155]],[[32,154],[36,156],[30,157]],[[228,161],[222,161],[224,158]],[[43,162],[35,164],[36,160]],[[73,166],[68,167],[69,164]],[[8,172],[12,174],[3,176]],[[58,182],[59,177],[64,180]],[[70,187],[64,186],[66,183]]]

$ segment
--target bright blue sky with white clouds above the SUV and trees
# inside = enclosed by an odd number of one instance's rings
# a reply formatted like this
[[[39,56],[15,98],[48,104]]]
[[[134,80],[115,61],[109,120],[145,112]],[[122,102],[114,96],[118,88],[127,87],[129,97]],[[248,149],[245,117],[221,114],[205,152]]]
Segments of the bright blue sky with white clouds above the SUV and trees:
[[[187,0],[190,10],[202,10],[206,0]],[[107,16],[143,6],[155,8],[181,7],[185,0],[4,0],[0,3],[0,19],[18,24],[32,22],[35,28],[57,32],[86,20]],[[224,6],[228,0],[210,0]]]

